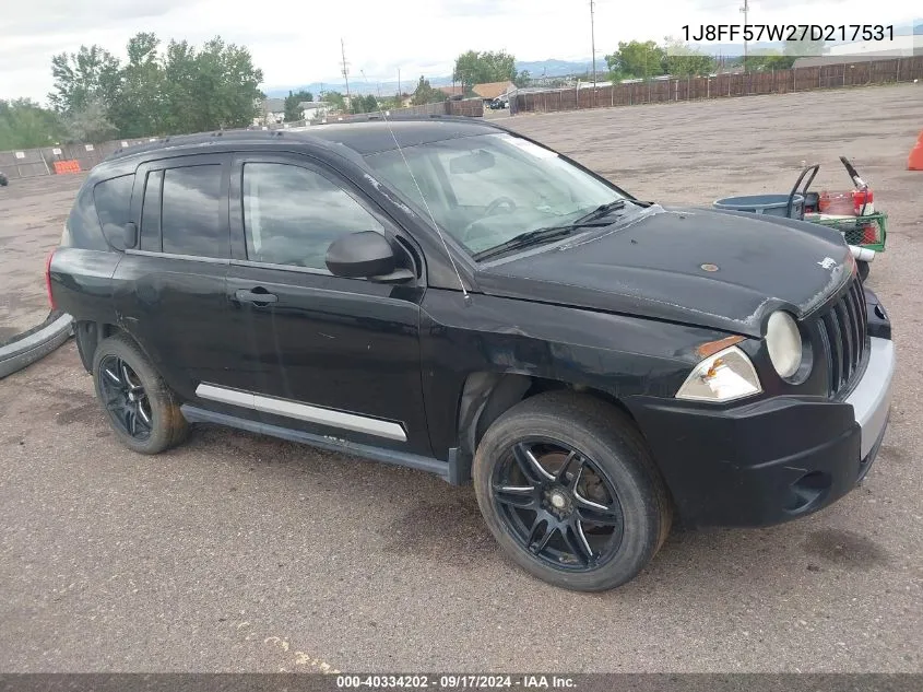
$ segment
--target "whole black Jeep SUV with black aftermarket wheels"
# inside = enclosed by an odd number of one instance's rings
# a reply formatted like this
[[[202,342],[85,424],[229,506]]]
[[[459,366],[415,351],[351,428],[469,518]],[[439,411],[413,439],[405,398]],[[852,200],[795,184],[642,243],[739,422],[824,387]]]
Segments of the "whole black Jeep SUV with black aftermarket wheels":
[[[887,425],[890,324],[837,231],[640,201],[474,119],[118,152],[47,273],[129,448],[220,423],[473,480],[572,589],[632,578],[674,515],[830,504]]]

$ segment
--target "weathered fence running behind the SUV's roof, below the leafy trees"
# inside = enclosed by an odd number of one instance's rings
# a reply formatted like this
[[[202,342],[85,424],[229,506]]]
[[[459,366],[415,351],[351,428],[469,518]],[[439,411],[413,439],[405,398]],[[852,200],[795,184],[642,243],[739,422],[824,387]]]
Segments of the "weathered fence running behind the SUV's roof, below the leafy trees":
[[[465,98],[462,101],[445,101],[425,106],[411,106],[389,112],[392,116],[401,115],[458,115],[481,117],[484,115],[484,102],[481,98]],[[377,114],[328,116],[328,122],[368,120],[378,117]],[[308,127],[306,120],[265,126],[265,129],[279,130]],[[251,127],[247,129],[264,129]],[[56,144],[40,149],[20,149],[0,152],[0,172],[10,179],[32,178],[36,176],[56,175],[55,163],[76,161],[81,171],[90,171],[97,163],[115,153],[118,149],[155,142],[161,138],[121,139],[103,142],[102,144]]]

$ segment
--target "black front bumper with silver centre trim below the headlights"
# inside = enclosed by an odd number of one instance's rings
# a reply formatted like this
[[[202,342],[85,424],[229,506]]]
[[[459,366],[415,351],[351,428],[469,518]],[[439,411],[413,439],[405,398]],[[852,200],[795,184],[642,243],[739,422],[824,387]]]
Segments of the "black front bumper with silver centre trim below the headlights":
[[[872,337],[845,401],[773,397],[746,406],[626,401],[691,525],[767,526],[816,512],[862,480],[885,435],[895,348]]]

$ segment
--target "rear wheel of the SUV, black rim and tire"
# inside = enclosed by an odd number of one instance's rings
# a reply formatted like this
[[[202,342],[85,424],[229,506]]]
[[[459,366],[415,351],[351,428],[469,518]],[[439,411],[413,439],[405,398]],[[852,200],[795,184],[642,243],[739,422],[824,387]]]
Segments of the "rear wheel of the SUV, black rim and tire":
[[[158,454],[186,438],[189,425],[176,395],[128,337],[99,342],[93,380],[109,424],[129,449]]]

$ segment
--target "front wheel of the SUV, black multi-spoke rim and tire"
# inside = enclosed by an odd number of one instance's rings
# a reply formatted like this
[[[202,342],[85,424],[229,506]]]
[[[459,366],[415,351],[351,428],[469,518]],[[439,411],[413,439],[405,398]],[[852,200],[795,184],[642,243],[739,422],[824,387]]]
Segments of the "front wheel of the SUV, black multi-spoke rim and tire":
[[[563,588],[629,582],[670,532],[666,488],[640,431],[589,397],[555,391],[512,407],[481,441],[473,477],[506,553]]]

